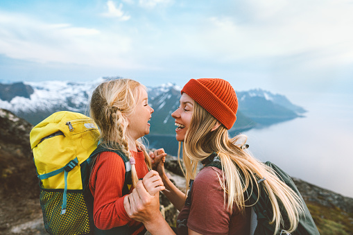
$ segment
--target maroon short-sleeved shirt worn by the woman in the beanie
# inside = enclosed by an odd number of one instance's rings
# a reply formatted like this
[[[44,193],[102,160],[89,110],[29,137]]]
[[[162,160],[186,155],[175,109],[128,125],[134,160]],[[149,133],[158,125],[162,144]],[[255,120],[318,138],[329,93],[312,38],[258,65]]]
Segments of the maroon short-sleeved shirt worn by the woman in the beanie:
[[[203,168],[191,188],[191,205],[184,205],[177,220],[178,234],[188,234],[188,228],[200,234],[250,234],[250,207],[246,213],[224,205],[224,195],[216,167]]]

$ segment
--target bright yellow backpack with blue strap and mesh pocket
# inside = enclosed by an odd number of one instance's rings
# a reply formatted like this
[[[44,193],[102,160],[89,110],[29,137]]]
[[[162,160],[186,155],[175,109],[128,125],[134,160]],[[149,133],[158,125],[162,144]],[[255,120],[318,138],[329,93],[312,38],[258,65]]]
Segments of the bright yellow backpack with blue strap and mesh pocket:
[[[76,112],[55,112],[31,130],[40,204],[49,234],[87,234],[84,190],[99,131],[92,119]],[[79,206],[78,206],[79,205]]]

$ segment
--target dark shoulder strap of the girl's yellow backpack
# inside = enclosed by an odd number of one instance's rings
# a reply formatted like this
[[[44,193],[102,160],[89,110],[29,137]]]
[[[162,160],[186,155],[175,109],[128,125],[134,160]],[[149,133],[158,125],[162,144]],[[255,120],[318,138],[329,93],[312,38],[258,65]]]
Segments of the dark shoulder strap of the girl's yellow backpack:
[[[99,153],[103,153],[103,152],[112,152],[112,153],[117,153],[117,155],[119,155],[119,157],[121,157],[121,159],[123,159],[124,165],[125,165],[125,181],[123,184],[123,195],[126,195],[129,193],[130,191],[130,186],[132,185],[132,177],[131,177],[131,164],[129,162],[128,157],[126,157],[126,155],[123,154],[122,151],[120,150],[115,150],[115,149],[110,149],[110,148],[105,148],[103,147],[101,144],[98,145],[98,147],[96,148],[96,150],[94,150],[91,155],[89,155],[89,160],[88,164],[91,163],[93,157],[95,155],[98,155]],[[130,185],[130,186],[129,186]]]

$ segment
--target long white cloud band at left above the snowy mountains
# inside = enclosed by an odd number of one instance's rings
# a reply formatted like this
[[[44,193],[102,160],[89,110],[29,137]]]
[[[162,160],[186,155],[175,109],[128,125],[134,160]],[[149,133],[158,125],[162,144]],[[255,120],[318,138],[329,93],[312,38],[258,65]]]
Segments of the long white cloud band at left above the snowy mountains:
[[[100,28],[49,24],[26,15],[0,11],[0,54],[8,58],[94,67],[138,68],[130,37]]]

